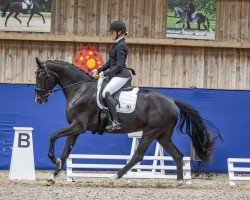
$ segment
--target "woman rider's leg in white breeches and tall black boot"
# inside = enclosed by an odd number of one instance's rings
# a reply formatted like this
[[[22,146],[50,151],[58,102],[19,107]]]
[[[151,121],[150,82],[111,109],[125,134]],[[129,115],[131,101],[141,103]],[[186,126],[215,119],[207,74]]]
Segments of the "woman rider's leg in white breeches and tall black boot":
[[[111,118],[113,120],[111,125],[106,127],[110,131],[121,128],[121,124],[119,123],[117,117],[115,103],[111,95],[121,89],[121,87],[124,86],[128,82],[128,80],[129,78],[114,77],[109,81],[108,85],[102,92],[102,96],[105,98],[106,104],[111,114]]]

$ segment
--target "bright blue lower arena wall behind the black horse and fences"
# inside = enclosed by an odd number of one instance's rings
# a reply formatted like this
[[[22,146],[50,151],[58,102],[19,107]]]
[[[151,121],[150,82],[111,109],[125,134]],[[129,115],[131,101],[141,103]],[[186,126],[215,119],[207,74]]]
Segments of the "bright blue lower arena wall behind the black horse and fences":
[[[49,97],[44,105],[34,102],[35,85],[0,84],[0,169],[9,169],[14,139],[13,127],[33,127],[36,169],[54,169],[47,157],[51,133],[67,125],[65,98],[62,92]],[[202,164],[202,172],[227,172],[228,157],[250,158],[250,91],[150,88],[180,99],[196,108],[221,131],[210,164]],[[185,156],[190,155],[190,139],[175,131],[174,142]],[[82,134],[73,153],[129,154],[131,139],[127,134]],[[65,139],[56,143],[56,155],[63,151]],[[152,154],[155,143],[147,154]],[[197,163],[192,163],[193,171]]]

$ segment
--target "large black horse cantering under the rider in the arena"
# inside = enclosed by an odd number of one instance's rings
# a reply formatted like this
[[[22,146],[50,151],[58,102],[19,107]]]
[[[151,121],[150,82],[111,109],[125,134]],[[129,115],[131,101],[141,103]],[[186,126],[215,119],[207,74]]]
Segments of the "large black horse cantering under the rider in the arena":
[[[66,116],[69,125],[53,133],[50,137],[48,156],[57,167],[53,176],[48,179],[48,183],[52,184],[68,158],[77,137],[87,130],[93,132],[99,130],[100,109],[96,102],[97,81],[79,68],[63,61],[41,62],[36,58],[36,62],[38,70],[36,71],[35,101],[39,104],[46,103],[48,96],[57,84],[61,86],[67,99]],[[145,89],[139,90],[137,101],[134,112],[118,113],[122,129],[114,134],[142,130],[143,136],[130,162],[112,178],[121,178],[143,159],[151,142],[157,140],[173,157],[177,165],[177,180],[183,180],[183,154],[171,139],[177,124],[178,108],[180,110],[180,131],[184,131],[190,136],[199,158],[205,162],[210,161],[215,139],[220,137],[220,133],[216,129],[218,135],[211,140],[208,137],[207,125],[215,127],[202,119],[194,108],[180,100]],[[61,159],[54,154],[55,142],[60,137],[68,137]]]

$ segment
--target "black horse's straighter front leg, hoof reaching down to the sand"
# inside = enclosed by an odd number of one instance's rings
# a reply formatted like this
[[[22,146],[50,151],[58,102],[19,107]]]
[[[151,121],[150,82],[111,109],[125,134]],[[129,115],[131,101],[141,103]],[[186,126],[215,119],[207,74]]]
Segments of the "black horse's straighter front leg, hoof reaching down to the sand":
[[[72,148],[75,145],[76,139],[78,138],[79,134],[77,135],[71,135],[68,137],[67,142],[65,144],[62,156],[61,156],[61,167],[57,167],[56,170],[54,171],[53,175],[47,180],[48,181],[48,185],[54,184],[55,183],[55,178],[59,175],[59,173],[61,172],[66,159],[69,157],[69,154],[72,150]]]

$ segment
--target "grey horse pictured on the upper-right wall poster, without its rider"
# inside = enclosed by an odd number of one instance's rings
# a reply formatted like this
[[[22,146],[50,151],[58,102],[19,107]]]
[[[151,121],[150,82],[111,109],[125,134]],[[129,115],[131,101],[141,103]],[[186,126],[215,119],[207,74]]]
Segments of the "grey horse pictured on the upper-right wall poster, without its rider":
[[[210,22],[209,19],[206,15],[202,14],[202,13],[195,13],[195,17],[193,18],[192,21],[190,21],[188,19],[188,11],[181,8],[181,7],[174,7],[174,11],[175,11],[175,16],[179,15],[180,20],[176,22],[176,26],[178,27],[178,25],[180,23],[182,23],[182,32],[185,29],[185,23],[188,24],[188,27],[190,27],[190,23],[197,23],[198,26],[198,30],[200,30],[200,25],[202,24],[206,30],[206,34],[207,31],[212,32],[212,30],[210,29]],[[205,35],[206,35],[205,34]]]

